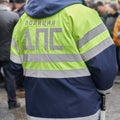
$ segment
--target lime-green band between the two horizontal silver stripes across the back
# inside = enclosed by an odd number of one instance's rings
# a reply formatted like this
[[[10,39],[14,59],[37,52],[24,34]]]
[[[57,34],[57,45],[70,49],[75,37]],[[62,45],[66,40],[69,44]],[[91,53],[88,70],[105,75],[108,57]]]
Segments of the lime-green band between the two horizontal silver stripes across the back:
[[[32,70],[73,70],[86,69],[84,61],[80,62],[23,62],[24,69]]]

